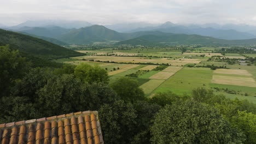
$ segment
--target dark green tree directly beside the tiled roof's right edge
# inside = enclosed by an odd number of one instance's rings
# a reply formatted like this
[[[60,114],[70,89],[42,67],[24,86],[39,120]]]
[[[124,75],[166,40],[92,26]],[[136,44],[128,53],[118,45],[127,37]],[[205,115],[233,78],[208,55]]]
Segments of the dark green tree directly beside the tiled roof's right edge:
[[[136,133],[136,111],[131,103],[123,100],[104,104],[98,111],[106,143],[131,143]]]

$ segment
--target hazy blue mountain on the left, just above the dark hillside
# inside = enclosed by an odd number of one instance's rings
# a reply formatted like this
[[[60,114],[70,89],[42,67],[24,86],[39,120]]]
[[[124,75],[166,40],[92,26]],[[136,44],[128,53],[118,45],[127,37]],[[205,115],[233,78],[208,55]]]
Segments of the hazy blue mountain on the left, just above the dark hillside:
[[[20,32],[25,32],[29,34],[34,34],[43,37],[56,38],[59,35],[65,34],[72,29],[62,28],[62,27],[21,27],[18,29]]]

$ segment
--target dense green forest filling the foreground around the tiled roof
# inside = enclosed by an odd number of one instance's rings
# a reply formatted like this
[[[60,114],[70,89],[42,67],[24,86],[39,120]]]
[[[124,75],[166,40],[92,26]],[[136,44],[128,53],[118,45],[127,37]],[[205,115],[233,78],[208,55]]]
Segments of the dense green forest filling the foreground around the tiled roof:
[[[110,85],[96,65],[37,67],[22,55],[29,45],[15,44],[0,47],[0,123],[97,110],[105,143],[256,143],[256,106],[247,100],[205,88],[147,98],[136,80]]]

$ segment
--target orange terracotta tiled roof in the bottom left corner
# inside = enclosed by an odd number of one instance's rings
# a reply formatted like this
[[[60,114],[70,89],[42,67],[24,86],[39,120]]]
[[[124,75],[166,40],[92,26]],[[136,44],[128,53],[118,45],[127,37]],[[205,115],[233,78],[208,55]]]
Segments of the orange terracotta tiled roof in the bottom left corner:
[[[0,124],[0,143],[103,143],[97,111]]]

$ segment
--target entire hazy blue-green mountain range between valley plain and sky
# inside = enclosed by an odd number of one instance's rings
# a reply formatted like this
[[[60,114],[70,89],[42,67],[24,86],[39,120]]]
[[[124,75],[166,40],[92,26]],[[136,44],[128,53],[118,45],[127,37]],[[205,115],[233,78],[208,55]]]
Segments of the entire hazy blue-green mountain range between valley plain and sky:
[[[166,22],[158,27],[150,26],[139,28],[130,33],[120,33],[100,25],[92,25],[82,28],[63,28],[59,26],[25,26],[18,29],[11,29],[11,31],[31,35],[32,37],[37,37],[57,45],[84,45],[98,42],[143,45],[173,43],[208,45],[255,44],[253,35],[245,32],[237,32],[230,29],[220,30],[214,28],[202,28],[191,25],[178,26],[171,22]],[[229,37],[229,40],[226,40],[225,37]],[[237,38],[241,40],[232,40]]]

